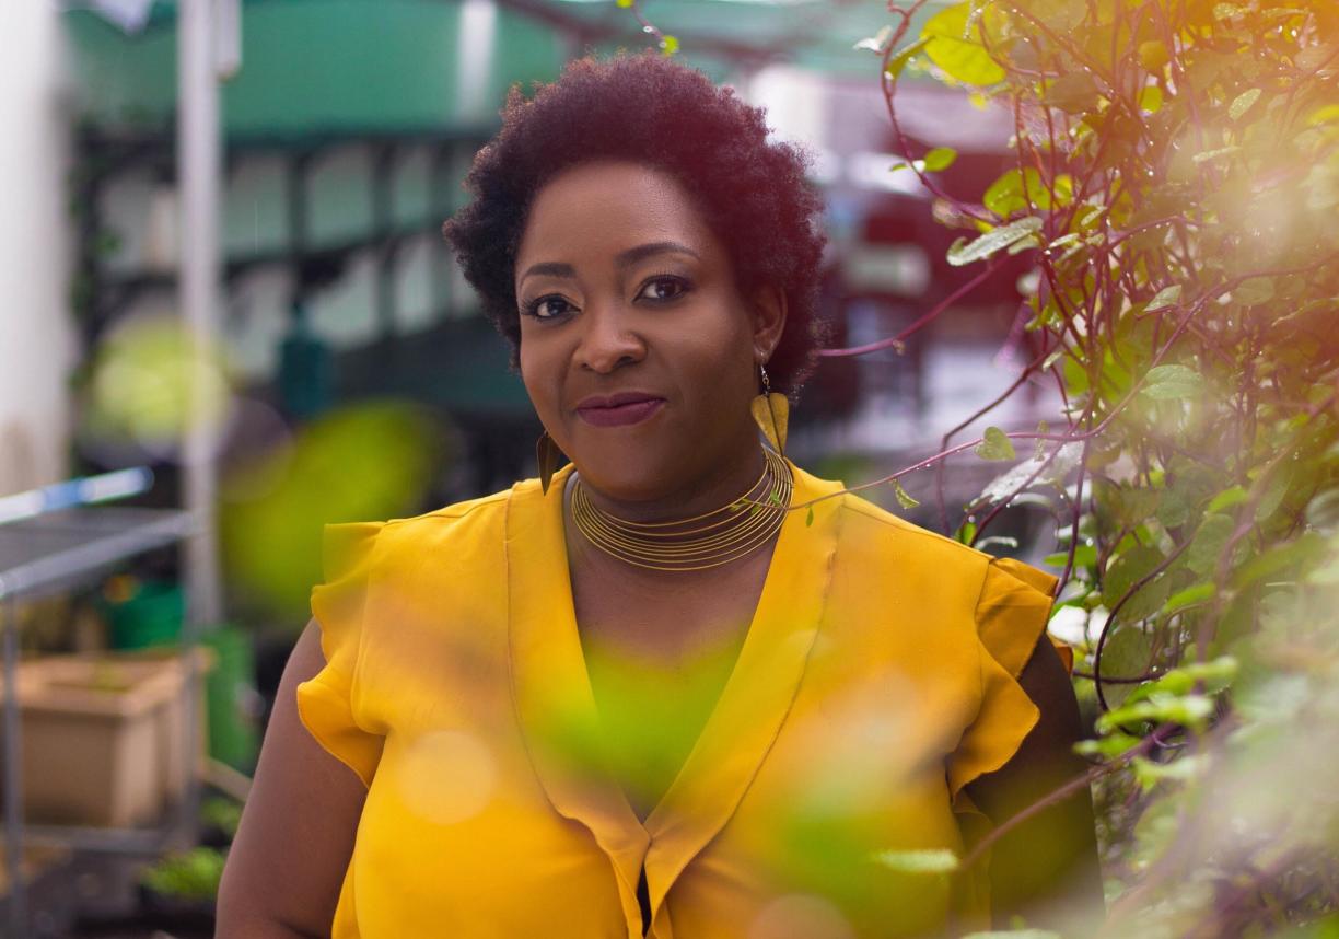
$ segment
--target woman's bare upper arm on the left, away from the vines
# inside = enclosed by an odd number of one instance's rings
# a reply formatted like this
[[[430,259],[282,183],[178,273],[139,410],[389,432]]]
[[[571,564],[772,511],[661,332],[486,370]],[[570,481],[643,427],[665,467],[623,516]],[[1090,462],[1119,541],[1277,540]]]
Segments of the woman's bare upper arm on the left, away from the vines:
[[[311,622],[289,655],[256,780],[218,889],[216,939],[328,936],[367,790],[297,717],[297,686],[325,666]]]

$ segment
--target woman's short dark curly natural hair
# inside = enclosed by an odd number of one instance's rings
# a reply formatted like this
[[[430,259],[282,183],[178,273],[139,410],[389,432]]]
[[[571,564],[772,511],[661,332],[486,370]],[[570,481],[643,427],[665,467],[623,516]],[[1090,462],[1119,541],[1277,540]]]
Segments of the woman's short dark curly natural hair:
[[[530,205],[560,171],[600,159],[679,179],[726,245],[739,288],[785,293],[786,328],[767,372],[775,390],[797,391],[823,340],[822,202],[805,177],[807,158],[767,139],[762,109],[653,52],[580,59],[529,100],[513,87],[502,130],[466,177],[473,201],[443,225],[483,312],[511,346],[511,366],[521,343],[514,265]]]

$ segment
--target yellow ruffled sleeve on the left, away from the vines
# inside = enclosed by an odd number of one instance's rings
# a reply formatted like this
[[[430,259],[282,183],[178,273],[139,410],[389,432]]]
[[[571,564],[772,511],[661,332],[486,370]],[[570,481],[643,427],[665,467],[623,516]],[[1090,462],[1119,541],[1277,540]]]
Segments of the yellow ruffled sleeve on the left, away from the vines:
[[[312,615],[321,628],[325,667],[297,686],[303,725],[368,786],[384,738],[359,726],[356,682],[368,577],[380,529],[378,522],[325,526],[325,583],[312,591]]]

